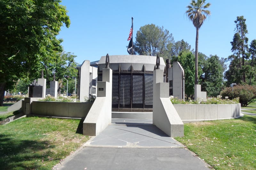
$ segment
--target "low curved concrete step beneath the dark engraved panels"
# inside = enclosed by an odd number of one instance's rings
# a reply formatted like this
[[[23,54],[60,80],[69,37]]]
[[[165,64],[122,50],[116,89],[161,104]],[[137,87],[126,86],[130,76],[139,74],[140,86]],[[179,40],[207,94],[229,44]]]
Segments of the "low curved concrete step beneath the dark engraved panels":
[[[112,112],[112,118],[153,119],[153,112]]]

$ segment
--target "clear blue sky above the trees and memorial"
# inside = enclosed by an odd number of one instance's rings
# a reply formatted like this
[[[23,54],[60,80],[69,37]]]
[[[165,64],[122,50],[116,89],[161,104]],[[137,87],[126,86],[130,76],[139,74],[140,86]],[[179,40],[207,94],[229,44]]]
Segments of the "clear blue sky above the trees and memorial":
[[[133,17],[133,41],[141,26],[164,26],[174,41],[187,41],[195,49],[196,28],[186,17],[191,0],[62,0],[71,20],[62,27],[64,51],[77,55],[76,62],[96,61],[101,56],[128,55],[127,48]],[[211,3],[211,16],[199,30],[198,51],[205,55],[228,57],[232,54],[237,16],[246,19],[249,44],[256,39],[256,0],[206,0]]]

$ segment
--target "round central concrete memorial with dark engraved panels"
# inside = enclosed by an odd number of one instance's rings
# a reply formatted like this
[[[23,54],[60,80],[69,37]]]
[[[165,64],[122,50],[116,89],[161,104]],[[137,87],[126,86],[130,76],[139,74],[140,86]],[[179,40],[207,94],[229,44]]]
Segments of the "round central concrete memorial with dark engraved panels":
[[[159,67],[164,70],[164,60],[162,57],[159,60]],[[155,56],[109,56],[109,67],[113,70],[112,111],[152,112],[155,65]],[[103,68],[105,68],[105,56],[100,58],[98,64],[98,81],[102,81]],[[165,79],[165,73],[162,79]]]

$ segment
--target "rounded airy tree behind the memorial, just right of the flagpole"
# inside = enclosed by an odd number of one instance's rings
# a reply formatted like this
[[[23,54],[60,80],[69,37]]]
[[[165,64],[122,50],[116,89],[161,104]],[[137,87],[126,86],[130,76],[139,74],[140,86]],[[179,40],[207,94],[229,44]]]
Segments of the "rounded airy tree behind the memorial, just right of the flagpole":
[[[161,55],[173,43],[172,34],[164,27],[148,24],[141,26],[136,33],[135,53],[139,55]]]

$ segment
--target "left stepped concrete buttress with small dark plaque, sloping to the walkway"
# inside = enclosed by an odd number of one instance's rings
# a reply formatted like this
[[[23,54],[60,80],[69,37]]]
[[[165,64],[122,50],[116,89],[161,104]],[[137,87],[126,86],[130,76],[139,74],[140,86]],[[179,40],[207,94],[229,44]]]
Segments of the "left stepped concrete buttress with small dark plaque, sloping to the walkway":
[[[97,136],[111,123],[112,70],[102,69],[102,81],[98,81],[97,98],[83,123],[83,134]]]

